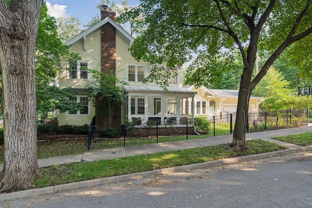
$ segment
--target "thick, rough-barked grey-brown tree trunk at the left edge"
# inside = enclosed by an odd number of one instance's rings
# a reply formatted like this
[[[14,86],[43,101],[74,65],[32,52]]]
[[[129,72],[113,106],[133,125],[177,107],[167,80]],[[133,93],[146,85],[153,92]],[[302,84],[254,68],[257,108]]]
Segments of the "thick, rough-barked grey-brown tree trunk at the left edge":
[[[4,167],[0,192],[27,189],[39,176],[35,50],[42,0],[0,1]],[[4,23],[3,23],[4,22]]]

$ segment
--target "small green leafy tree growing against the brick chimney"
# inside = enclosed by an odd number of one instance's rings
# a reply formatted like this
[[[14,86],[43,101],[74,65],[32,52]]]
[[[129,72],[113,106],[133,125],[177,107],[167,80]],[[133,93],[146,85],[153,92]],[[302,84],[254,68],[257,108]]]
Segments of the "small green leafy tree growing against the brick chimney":
[[[123,90],[118,84],[127,85],[127,83],[116,78],[113,71],[101,73],[98,70],[90,70],[90,73],[94,80],[86,83],[86,89],[89,90],[89,96],[94,101],[94,105],[96,100],[105,103],[97,111],[103,115],[106,115],[108,112],[109,125],[111,125],[115,105],[123,103],[125,98]]]

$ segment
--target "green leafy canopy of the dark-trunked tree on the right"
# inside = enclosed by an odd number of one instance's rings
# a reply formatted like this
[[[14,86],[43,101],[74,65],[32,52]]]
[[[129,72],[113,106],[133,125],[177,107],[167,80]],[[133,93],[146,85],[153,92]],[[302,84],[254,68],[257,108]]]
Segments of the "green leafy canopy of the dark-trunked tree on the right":
[[[270,5],[273,5],[272,11],[268,9]],[[195,74],[190,82],[201,85],[204,80],[210,82],[220,75],[220,71],[231,67],[229,61],[233,61],[233,57],[230,51],[239,48],[242,57],[246,58],[248,47],[245,46],[249,42],[251,26],[255,27],[254,22],[262,20],[261,14],[271,13],[265,23],[261,22],[263,29],[260,28],[259,41],[254,47],[274,52],[290,36],[302,36],[306,30],[311,32],[311,10],[310,0],[144,0],[136,10],[127,13],[132,18],[144,16],[148,26],[137,37],[131,52],[137,60],[166,61],[170,67],[193,60],[190,70]],[[302,19],[297,19],[300,13]],[[293,28],[298,20],[300,24]],[[292,47],[287,53],[298,50]],[[220,57],[224,55],[229,61],[223,58],[220,63]],[[249,64],[246,60],[243,63],[245,66]]]

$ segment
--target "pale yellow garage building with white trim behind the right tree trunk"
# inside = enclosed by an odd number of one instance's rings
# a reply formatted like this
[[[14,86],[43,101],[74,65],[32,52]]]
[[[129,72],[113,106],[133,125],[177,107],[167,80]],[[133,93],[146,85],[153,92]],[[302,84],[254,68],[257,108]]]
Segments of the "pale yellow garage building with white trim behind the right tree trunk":
[[[194,85],[184,86],[185,89],[197,92],[195,95],[195,115],[208,114],[208,116],[224,115],[236,112],[238,90],[215,90],[205,86],[196,88]],[[264,97],[251,96],[249,100],[249,112],[257,112],[259,104]]]

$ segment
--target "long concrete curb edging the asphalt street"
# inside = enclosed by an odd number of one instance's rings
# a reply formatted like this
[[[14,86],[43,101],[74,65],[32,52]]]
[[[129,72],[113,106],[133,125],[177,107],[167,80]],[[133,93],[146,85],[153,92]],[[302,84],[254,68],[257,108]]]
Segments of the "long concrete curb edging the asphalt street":
[[[290,154],[290,153],[295,153],[295,152],[300,152],[300,151],[311,151],[311,150],[312,150],[312,145],[306,146],[306,147],[295,148],[295,149],[272,151],[272,152],[254,154],[254,155],[227,158],[227,159],[222,159],[222,160],[214,160],[214,161],[209,161],[209,162],[204,162],[204,163],[196,163],[196,164],[178,166],[178,167],[173,167],[173,168],[150,170],[150,171],[145,171],[145,172],[131,173],[127,175],[118,175],[118,176],[112,176],[112,177],[106,177],[106,178],[99,178],[99,179],[94,179],[94,180],[57,185],[53,187],[21,190],[21,191],[16,191],[12,193],[2,193],[0,194],[0,201],[12,200],[12,199],[17,199],[17,198],[22,198],[22,197],[29,197],[29,196],[39,195],[39,194],[53,194],[55,192],[63,191],[63,190],[80,189],[84,187],[92,187],[92,186],[113,183],[113,182],[134,180],[138,178],[155,176],[155,175],[167,175],[167,174],[174,173],[174,172],[202,169],[202,168],[208,168],[208,167],[217,166],[217,165],[226,165],[226,164],[231,164],[231,163],[236,163],[236,162],[241,162],[241,161],[254,160],[254,159],[260,159],[260,158],[265,158],[265,157]]]

